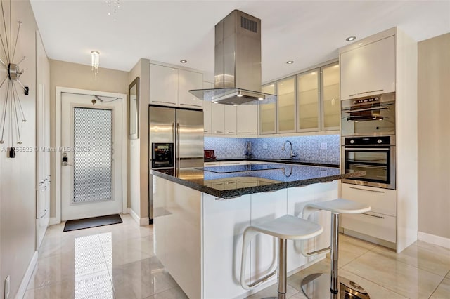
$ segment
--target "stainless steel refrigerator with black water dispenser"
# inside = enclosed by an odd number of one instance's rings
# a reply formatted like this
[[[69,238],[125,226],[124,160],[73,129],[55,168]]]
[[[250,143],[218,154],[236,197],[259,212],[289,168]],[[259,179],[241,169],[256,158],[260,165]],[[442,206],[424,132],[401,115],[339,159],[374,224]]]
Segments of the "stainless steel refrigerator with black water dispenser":
[[[177,175],[179,168],[203,167],[203,110],[150,105],[148,123],[150,169]],[[148,180],[148,215],[153,223],[153,175]]]

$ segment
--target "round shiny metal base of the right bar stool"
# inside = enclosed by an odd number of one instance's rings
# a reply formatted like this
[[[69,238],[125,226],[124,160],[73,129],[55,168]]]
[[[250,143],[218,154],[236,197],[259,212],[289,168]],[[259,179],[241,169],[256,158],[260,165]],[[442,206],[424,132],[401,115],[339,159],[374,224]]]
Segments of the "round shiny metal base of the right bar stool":
[[[339,277],[338,293],[330,290],[330,274],[314,273],[302,280],[302,291],[308,299],[370,299],[367,291],[345,277]]]

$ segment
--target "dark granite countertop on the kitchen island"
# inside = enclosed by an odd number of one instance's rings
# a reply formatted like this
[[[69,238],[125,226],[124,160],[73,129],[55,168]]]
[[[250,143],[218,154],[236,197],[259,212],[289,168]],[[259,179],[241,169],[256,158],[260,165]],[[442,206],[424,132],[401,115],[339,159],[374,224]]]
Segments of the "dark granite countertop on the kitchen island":
[[[174,176],[167,171],[153,169],[151,174],[218,198],[239,197],[244,194],[269,192],[300,187],[317,182],[330,182],[365,175],[364,171],[341,173],[339,168],[306,165],[257,164],[181,168]]]

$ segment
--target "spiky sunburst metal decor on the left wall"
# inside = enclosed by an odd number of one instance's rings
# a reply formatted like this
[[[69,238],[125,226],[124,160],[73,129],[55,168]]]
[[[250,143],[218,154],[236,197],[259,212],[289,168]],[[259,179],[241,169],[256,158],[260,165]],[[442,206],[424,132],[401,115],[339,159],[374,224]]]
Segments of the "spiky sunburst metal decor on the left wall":
[[[0,0],[1,18],[0,22],[0,67],[6,70],[6,76],[0,78],[0,88],[5,86],[5,91],[0,93],[0,144],[8,142],[9,150],[8,157],[15,157],[15,145],[22,144],[20,138],[20,123],[27,121],[25,114],[23,113],[22,105],[20,104],[20,98],[18,88],[22,88],[25,95],[28,94],[28,87],[24,86],[20,82],[20,76],[24,70],[20,69],[20,62],[26,59],[26,56],[21,58],[15,57],[15,51],[18,44],[21,21],[18,21],[17,32],[15,34],[15,40],[13,39],[13,25],[11,22],[11,0],[9,1],[9,24],[6,22],[3,0]],[[8,13],[8,11],[6,11]],[[7,27],[7,25],[9,25]],[[1,28],[3,27],[3,28]],[[18,62],[15,62],[17,61]],[[14,63],[15,62],[15,63]],[[8,135],[8,140],[4,140]],[[6,134],[5,134],[6,133]]]

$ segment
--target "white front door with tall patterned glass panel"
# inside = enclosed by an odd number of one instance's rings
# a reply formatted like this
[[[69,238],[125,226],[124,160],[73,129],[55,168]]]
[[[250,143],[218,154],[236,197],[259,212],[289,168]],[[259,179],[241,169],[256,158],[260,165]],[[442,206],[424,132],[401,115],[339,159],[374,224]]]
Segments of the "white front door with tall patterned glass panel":
[[[122,98],[114,99],[61,94],[63,221],[122,211]]]

